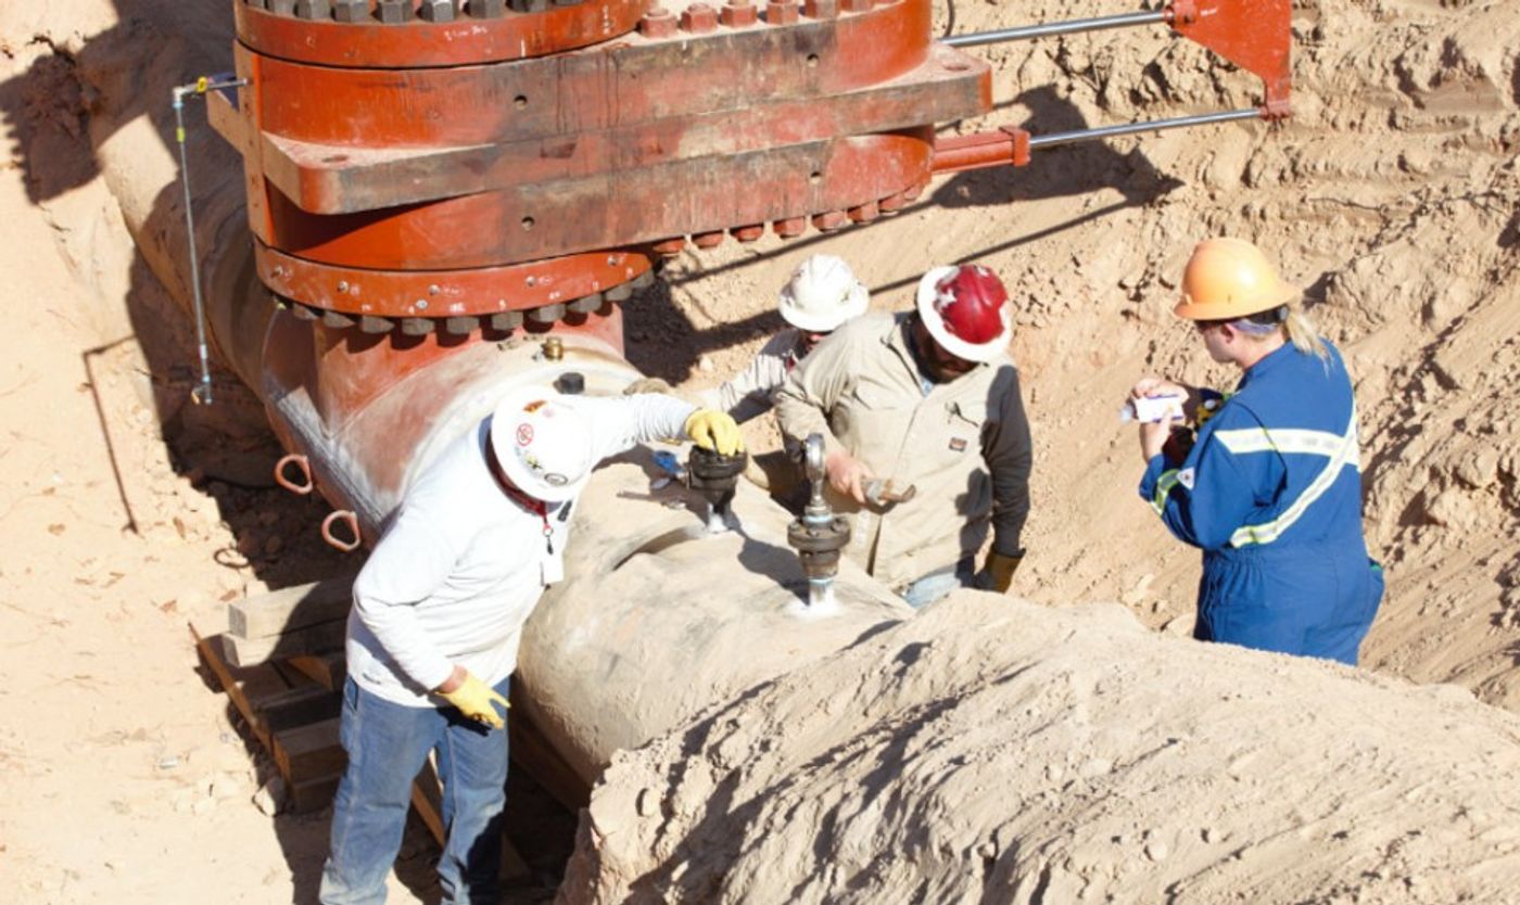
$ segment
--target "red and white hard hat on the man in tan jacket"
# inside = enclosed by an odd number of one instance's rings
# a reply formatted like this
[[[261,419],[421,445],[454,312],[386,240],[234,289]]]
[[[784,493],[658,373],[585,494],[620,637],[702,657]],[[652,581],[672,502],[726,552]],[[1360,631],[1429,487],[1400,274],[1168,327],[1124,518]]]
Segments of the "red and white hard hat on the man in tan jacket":
[[[980,264],[935,267],[918,281],[918,317],[956,358],[986,363],[1014,339],[1003,281]]]

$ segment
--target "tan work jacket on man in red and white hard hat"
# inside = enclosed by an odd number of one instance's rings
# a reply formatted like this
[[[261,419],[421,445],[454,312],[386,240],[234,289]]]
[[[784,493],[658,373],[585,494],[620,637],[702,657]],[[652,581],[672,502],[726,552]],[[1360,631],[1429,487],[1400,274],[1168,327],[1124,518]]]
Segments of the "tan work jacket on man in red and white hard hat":
[[[994,550],[1021,554],[1029,515],[1029,419],[1012,358],[927,392],[909,348],[910,314],[866,314],[821,342],[777,393],[781,431],[796,442],[824,436],[844,448],[906,503],[876,509],[830,487],[834,512],[851,516],[845,556],[889,588],[974,556],[990,524]]]

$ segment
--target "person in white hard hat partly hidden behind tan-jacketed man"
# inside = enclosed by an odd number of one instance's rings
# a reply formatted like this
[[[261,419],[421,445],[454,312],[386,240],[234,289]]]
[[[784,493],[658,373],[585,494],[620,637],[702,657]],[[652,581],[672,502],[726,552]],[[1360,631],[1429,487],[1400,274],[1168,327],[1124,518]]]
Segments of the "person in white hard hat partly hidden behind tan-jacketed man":
[[[871,293],[844,258],[807,258],[777,293],[777,308],[787,328],[760,348],[749,367],[702,393],[702,404],[733,415],[740,424],[769,412],[775,390],[796,363],[842,323],[865,314],[869,305]]]

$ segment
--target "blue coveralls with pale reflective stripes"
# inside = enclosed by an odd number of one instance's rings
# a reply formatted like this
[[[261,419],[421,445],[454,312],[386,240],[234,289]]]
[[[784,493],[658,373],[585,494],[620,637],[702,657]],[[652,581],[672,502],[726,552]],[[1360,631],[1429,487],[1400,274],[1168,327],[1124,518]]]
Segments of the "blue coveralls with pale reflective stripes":
[[[1328,345],[1328,343],[1327,343]],[[1193,636],[1356,665],[1383,597],[1362,539],[1356,401],[1341,354],[1271,352],[1140,497],[1204,551]]]

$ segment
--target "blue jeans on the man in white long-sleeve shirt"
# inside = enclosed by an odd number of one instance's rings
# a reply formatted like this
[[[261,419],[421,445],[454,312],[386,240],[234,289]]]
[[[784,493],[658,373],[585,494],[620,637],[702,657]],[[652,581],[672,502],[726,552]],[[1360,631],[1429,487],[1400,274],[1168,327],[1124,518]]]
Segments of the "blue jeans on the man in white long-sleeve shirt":
[[[511,679],[496,689],[505,697]],[[401,849],[412,780],[438,750],[447,843],[438,859],[444,903],[500,899],[506,730],[454,708],[407,708],[344,683],[340,726],[348,768],[333,802],[331,853],[322,867],[324,905],[378,905]]]

